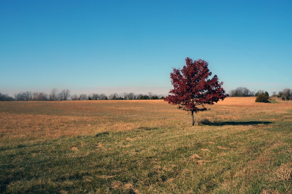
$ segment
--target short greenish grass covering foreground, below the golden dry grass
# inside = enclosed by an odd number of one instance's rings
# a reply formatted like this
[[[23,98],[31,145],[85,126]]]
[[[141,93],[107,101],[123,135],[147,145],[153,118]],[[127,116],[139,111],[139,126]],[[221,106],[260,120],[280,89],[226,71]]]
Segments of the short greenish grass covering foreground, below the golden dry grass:
[[[162,131],[163,138],[158,136]],[[273,169],[291,160],[291,145],[277,145],[280,138],[288,138],[288,129],[276,135],[268,129],[224,131],[230,135],[221,138],[225,132],[220,129],[157,128],[20,143],[1,151],[1,191],[257,193],[265,185],[292,189],[287,181],[271,183],[265,178],[275,177]]]

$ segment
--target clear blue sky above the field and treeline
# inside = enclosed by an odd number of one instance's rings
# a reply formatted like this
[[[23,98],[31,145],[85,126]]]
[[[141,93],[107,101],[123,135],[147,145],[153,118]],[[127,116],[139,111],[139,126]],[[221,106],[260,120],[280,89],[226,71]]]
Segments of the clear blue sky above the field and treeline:
[[[292,88],[292,1],[0,1],[2,93],[167,94],[186,57],[227,91]]]

